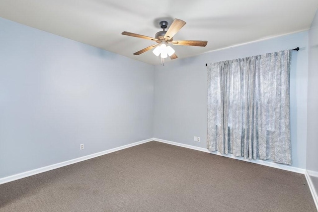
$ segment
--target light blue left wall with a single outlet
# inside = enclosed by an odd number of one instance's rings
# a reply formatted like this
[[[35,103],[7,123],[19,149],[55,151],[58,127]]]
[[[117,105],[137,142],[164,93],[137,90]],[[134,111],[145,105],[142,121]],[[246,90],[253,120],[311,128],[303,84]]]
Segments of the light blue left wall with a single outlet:
[[[153,102],[153,65],[0,18],[0,178],[152,138]]]

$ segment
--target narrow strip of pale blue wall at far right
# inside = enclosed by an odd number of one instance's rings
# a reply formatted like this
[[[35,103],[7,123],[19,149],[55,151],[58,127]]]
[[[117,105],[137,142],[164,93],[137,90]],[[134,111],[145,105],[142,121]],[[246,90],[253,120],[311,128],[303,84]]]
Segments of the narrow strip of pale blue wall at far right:
[[[318,193],[318,11],[309,31],[307,170]]]

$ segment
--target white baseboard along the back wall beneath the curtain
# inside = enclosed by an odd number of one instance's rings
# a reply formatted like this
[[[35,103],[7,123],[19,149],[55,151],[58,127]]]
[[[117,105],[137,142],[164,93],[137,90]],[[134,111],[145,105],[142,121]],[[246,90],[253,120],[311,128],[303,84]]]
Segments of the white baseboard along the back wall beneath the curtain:
[[[185,148],[189,148],[189,149],[194,149],[194,150],[198,150],[198,151],[202,151],[202,152],[208,152],[208,153],[215,154],[215,155],[221,155],[223,157],[234,158],[234,159],[237,159],[237,160],[242,160],[242,161],[246,161],[246,162],[250,162],[250,163],[256,163],[256,164],[260,164],[260,165],[264,165],[264,166],[270,166],[270,167],[277,168],[277,169],[283,169],[283,170],[287,170],[287,171],[291,171],[291,172],[297,172],[297,173],[305,174],[305,171],[306,171],[305,169],[302,169],[302,168],[297,168],[297,167],[293,167],[293,166],[289,166],[289,165],[274,163],[274,162],[270,162],[270,161],[248,160],[248,159],[244,159],[244,158],[241,158],[241,157],[234,156],[232,154],[224,155],[224,154],[221,154],[220,152],[211,152],[207,148],[191,146],[191,145],[187,145],[187,144],[183,144],[183,143],[177,143],[177,142],[168,141],[168,140],[162,140],[162,139],[159,139],[159,138],[153,138],[153,140],[158,141],[158,142],[162,142],[162,143],[175,145],[175,146],[181,146],[181,147],[185,147]]]

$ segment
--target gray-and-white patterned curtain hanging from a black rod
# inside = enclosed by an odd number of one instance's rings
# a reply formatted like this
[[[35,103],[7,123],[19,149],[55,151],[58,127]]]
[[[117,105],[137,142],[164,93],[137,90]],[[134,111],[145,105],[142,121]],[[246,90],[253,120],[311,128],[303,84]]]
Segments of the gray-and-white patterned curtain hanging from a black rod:
[[[290,50],[208,65],[210,151],[292,164]]]

